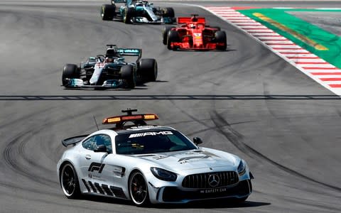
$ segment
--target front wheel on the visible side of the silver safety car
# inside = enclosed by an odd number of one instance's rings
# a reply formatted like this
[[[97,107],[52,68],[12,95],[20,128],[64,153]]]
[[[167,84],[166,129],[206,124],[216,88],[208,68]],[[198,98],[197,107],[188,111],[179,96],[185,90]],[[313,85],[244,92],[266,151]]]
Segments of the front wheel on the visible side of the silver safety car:
[[[130,198],[137,207],[146,207],[150,204],[148,185],[141,172],[136,170],[131,173],[128,185]]]

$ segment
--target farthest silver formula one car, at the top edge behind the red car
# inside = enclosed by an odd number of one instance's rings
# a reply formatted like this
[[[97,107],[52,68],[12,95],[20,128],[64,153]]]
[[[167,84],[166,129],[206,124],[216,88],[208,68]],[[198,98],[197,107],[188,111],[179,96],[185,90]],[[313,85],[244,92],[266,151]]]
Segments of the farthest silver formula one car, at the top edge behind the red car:
[[[121,6],[119,6],[121,4]],[[174,10],[171,7],[154,7],[148,1],[112,0],[112,4],[103,4],[103,20],[119,19],[124,23],[174,23]]]

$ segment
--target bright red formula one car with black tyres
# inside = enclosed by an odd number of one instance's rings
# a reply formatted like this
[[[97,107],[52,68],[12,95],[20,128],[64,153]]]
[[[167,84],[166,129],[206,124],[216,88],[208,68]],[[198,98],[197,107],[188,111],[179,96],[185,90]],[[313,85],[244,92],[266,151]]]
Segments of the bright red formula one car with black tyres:
[[[177,27],[165,27],[163,44],[169,50],[226,50],[226,33],[220,27],[207,26],[205,18],[178,17]]]

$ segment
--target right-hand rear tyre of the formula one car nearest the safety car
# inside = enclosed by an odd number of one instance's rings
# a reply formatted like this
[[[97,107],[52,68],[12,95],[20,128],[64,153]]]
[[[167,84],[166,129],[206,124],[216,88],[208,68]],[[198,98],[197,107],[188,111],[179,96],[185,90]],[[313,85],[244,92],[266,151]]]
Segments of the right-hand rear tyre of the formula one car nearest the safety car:
[[[158,63],[153,58],[144,58],[139,62],[139,73],[148,82],[155,82],[158,77]]]

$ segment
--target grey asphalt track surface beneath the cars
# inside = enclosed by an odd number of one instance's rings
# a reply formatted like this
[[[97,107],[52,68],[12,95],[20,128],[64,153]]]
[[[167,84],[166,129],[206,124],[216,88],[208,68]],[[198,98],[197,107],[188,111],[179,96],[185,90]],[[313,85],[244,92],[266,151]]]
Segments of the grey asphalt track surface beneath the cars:
[[[340,212],[338,97],[202,9],[174,5],[177,16],[200,13],[222,26],[226,52],[169,51],[162,26],[104,22],[102,2],[81,3],[0,1],[0,212]],[[103,53],[107,43],[143,48],[144,58],[158,60],[158,81],[134,90],[60,87],[65,63]],[[239,205],[148,209],[96,197],[67,200],[55,172],[65,150],[60,140],[95,131],[93,116],[102,120],[127,107],[156,113],[153,124],[247,160],[253,194]]]

